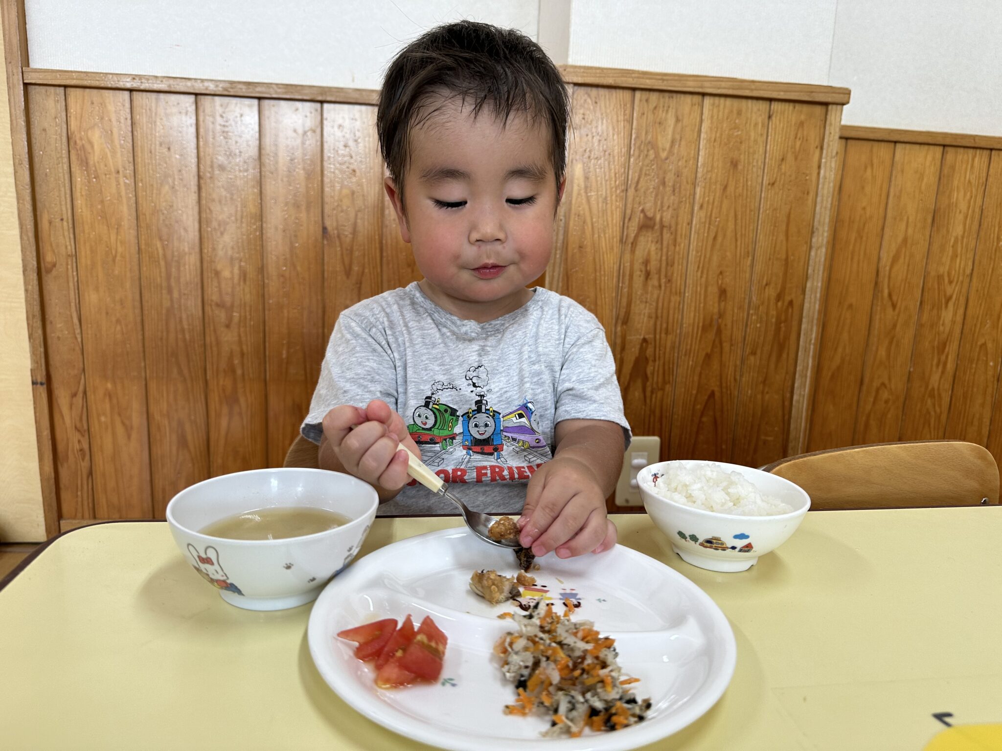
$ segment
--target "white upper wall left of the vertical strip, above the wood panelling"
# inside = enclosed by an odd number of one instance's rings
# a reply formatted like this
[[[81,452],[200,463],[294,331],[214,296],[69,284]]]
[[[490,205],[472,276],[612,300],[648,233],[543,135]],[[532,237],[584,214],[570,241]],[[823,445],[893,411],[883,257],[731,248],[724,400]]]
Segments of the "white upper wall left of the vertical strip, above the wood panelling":
[[[538,0],[25,0],[36,68],[379,88],[386,64],[439,23],[536,38]]]

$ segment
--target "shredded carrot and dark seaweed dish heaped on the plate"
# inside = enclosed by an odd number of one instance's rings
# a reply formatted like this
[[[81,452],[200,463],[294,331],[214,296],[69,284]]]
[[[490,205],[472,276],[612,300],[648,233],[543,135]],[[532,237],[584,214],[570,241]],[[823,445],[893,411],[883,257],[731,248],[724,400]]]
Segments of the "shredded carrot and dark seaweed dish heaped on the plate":
[[[518,699],[504,708],[509,715],[543,715],[548,738],[576,738],[590,728],[621,730],[640,722],[650,700],[638,700],[626,688],[639,681],[623,678],[616,663],[615,640],[603,637],[591,621],[573,621],[573,604],[564,615],[553,604],[537,601],[528,613],[505,614],[518,627],[494,645],[501,670],[515,684]]]

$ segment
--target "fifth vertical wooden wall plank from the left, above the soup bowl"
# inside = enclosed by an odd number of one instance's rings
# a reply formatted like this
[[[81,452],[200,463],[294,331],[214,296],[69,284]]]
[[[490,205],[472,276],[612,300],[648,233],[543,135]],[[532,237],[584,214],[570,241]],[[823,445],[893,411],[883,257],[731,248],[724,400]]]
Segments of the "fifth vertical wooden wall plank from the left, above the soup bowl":
[[[321,105],[261,103],[268,464],[282,467],[324,356]]]

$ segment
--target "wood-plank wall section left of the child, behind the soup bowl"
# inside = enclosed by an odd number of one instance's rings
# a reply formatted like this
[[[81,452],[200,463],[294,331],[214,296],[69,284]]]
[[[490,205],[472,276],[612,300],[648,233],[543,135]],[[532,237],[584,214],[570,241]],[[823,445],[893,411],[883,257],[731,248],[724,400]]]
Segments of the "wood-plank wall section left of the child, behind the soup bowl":
[[[417,278],[374,108],[27,94],[62,518],[281,466],[340,311]]]

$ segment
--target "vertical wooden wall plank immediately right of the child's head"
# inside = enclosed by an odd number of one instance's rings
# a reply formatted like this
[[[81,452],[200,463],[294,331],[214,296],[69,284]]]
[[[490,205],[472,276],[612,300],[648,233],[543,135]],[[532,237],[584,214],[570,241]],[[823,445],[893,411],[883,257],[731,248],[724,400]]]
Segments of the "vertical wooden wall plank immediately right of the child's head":
[[[575,86],[571,142],[561,210],[568,231],[551,278],[561,294],[588,308],[611,338],[633,117],[628,89]],[[550,269],[547,277],[550,278]]]

